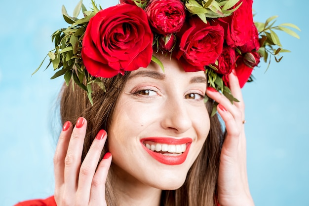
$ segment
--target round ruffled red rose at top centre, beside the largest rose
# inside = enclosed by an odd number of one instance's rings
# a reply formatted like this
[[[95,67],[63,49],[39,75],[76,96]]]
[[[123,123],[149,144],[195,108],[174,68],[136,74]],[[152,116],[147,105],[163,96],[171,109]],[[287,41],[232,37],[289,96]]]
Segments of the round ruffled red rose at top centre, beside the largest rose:
[[[179,32],[186,20],[185,5],[180,0],[150,0],[145,12],[157,34]]]

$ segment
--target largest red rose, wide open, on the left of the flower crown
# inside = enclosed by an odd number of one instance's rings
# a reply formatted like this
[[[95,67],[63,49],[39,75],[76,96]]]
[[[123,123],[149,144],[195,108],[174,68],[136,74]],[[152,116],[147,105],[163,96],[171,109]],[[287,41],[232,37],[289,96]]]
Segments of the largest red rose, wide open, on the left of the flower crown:
[[[89,21],[81,57],[95,77],[113,77],[147,67],[153,54],[153,33],[144,10],[119,4],[99,11]]]

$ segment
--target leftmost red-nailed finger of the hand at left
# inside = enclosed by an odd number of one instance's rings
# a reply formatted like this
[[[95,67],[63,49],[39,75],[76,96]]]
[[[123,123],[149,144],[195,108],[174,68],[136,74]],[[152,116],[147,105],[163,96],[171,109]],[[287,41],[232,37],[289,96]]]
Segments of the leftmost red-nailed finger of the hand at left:
[[[64,183],[64,161],[67,155],[72,130],[72,123],[70,121],[65,122],[58,139],[54,155],[54,174],[56,188],[59,188]]]

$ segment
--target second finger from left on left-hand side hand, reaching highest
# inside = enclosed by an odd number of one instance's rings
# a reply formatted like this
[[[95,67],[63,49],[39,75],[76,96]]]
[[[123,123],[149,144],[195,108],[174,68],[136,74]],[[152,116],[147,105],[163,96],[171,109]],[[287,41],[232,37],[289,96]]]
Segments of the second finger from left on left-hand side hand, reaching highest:
[[[83,142],[86,134],[87,121],[83,117],[79,117],[75,128],[73,129],[68,152],[65,158],[65,193],[70,195],[77,189],[77,177],[81,163],[81,153]]]

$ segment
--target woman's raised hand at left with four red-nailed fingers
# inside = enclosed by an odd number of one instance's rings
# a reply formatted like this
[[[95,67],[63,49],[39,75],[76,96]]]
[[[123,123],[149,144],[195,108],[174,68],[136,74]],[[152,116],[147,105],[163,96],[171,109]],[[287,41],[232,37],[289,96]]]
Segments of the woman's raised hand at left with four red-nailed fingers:
[[[106,153],[99,165],[98,162],[107,134],[104,130],[97,134],[81,163],[86,126],[86,119],[80,117],[75,128],[66,122],[60,134],[54,156],[54,197],[58,206],[106,206],[105,181],[111,153]]]

